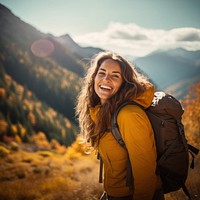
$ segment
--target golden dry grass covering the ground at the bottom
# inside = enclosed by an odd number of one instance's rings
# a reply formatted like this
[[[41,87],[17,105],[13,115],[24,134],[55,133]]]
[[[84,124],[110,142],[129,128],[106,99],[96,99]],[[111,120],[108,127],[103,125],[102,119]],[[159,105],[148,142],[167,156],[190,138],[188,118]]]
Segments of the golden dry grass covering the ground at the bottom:
[[[0,200],[99,199],[103,189],[98,183],[98,160],[94,154],[83,156],[74,149],[77,145],[69,148],[66,154],[27,152],[20,148],[3,153],[0,157]],[[199,157],[187,180],[193,200],[200,199]],[[181,190],[165,196],[166,200],[187,200]]]

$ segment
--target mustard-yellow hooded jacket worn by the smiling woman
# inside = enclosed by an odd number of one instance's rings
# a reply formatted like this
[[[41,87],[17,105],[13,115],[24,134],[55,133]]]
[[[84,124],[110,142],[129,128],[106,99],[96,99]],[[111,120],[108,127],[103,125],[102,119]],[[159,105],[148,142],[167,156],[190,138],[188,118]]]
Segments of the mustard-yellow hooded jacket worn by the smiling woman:
[[[154,96],[153,87],[135,101],[149,107]],[[91,108],[95,120],[96,108]],[[100,139],[99,153],[104,162],[104,189],[110,196],[133,194],[134,200],[152,200],[160,188],[156,175],[156,147],[153,130],[146,113],[136,105],[127,105],[117,117],[120,133],[126,144],[133,172],[133,187],[126,186],[127,151],[121,147],[111,132]]]

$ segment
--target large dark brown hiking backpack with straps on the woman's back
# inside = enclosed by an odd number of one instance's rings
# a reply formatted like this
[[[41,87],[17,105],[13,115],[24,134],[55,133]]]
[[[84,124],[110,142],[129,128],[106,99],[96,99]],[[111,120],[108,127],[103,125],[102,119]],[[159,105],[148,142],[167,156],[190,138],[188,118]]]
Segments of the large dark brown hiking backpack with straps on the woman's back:
[[[125,143],[119,132],[117,115],[126,105],[141,105],[133,101],[122,103],[112,117],[111,132],[118,143],[126,148]],[[154,137],[157,148],[157,174],[160,175],[164,193],[183,189],[190,198],[185,186],[189,168],[189,153],[193,160],[191,168],[194,168],[194,154],[198,154],[198,149],[187,143],[184,133],[184,126],[181,122],[183,108],[180,102],[169,94],[156,92],[152,105],[145,109],[154,130]],[[133,133],[134,134],[134,133]],[[193,154],[194,153],[194,154]],[[130,161],[127,165],[127,185],[131,185]]]

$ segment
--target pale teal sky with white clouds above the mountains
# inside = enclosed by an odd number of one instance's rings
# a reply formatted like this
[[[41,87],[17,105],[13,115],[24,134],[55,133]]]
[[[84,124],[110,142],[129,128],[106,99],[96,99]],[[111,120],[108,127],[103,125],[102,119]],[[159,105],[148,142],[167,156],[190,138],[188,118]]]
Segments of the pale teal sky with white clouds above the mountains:
[[[123,55],[200,50],[200,0],[0,0],[43,33]]]

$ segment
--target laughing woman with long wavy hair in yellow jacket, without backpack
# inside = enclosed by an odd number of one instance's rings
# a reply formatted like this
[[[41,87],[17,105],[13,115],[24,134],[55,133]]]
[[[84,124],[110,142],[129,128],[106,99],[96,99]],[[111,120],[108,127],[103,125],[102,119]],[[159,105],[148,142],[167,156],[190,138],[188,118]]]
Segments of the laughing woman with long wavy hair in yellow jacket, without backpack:
[[[131,99],[147,108],[154,88],[134,66],[112,52],[95,56],[78,97],[76,111],[83,136],[97,148],[104,163],[104,189],[108,199],[163,199],[156,175],[156,147],[153,130],[145,112],[127,105],[117,122],[127,150],[110,132],[111,117],[120,103]],[[130,157],[133,185],[126,186],[126,166]],[[157,196],[157,197],[156,197]]]

